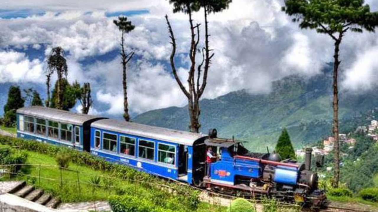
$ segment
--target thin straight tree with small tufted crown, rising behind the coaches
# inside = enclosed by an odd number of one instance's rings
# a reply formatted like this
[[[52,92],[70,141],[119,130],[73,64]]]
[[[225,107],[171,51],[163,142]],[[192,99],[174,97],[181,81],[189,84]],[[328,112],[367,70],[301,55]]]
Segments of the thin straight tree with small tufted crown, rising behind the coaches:
[[[122,60],[122,88],[123,88],[123,107],[124,114],[123,117],[125,121],[130,121],[129,115],[129,103],[127,102],[127,63],[131,60],[134,52],[125,52],[125,34],[131,32],[135,26],[131,24],[131,21],[127,21],[127,17],[118,17],[118,20],[113,20],[113,23],[121,31],[121,60]],[[84,108],[84,107],[83,107]]]

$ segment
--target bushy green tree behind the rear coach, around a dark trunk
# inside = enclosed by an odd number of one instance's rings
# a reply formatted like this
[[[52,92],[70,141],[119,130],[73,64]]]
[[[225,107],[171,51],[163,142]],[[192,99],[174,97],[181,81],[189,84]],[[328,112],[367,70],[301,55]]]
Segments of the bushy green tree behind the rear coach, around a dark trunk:
[[[50,102],[51,108],[57,108],[57,103],[59,101],[57,95],[58,87],[58,82],[56,82]],[[70,83],[68,83],[66,78],[62,78],[60,82],[60,90],[62,91],[62,101],[60,109],[69,111],[71,108],[75,106],[76,100],[80,95],[80,85],[78,85],[78,83],[73,83],[71,85]]]

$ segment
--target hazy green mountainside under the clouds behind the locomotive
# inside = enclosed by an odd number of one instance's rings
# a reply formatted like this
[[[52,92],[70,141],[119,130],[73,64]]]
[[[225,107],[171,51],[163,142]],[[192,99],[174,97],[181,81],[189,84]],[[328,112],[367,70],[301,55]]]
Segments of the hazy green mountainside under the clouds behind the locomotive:
[[[248,141],[250,149],[263,150],[275,144],[282,127],[287,127],[296,147],[318,141],[331,133],[332,76],[330,68],[316,77],[290,76],[274,81],[270,94],[253,95],[242,90],[201,100],[201,131],[217,128],[223,137]],[[210,88],[208,88],[210,89]],[[342,92],[341,131],[354,126],[356,118],[378,106],[378,92]],[[149,111],[134,121],[187,130],[186,106]]]

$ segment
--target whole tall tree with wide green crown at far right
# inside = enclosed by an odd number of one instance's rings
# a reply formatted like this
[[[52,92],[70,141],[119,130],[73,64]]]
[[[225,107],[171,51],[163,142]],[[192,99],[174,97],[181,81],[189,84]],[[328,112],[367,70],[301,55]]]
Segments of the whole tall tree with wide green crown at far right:
[[[282,8],[300,22],[302,29],[315,29],[327,34],[334,41],[333,63],[333,136],[335,137],[335,169],[333,187],[338,187],[340,178],[339,118],[338,118],[338,69],[341,61],[339,51],[342,38],[348,31],[373,32],[378,25],[378,13],[370,12],[364,0],[285,0]]]

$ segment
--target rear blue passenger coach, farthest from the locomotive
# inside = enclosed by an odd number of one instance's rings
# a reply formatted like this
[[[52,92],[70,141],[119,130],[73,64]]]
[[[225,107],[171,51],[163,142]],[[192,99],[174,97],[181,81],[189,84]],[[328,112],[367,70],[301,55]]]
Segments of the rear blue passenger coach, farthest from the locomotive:
[[[90,151],[90,124],[103,119],[41,106],[17,110],[17,137]]]

